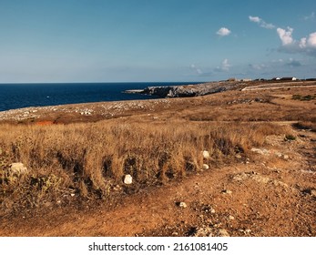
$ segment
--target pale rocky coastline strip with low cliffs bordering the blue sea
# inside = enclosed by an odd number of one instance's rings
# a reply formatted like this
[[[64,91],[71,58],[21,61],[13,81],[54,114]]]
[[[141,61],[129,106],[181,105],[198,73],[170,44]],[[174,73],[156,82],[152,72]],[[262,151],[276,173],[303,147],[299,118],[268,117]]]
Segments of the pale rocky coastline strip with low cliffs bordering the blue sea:
[[[157,109],[178,108],[178,104],[192,104],[191,99],[208,100],[209,95],[220,98],[223,92],[239,95],[241,93],[257,93],[257,91],[278,89],[313,88],[315,81],[300,82],[212,82],[196,85],[174,87],[146,87],[145,89],[128,89],[126,93],[148,93],[149,99],[102,101],[79,104],[64,104],[46,107],[22,107],[0,111],[0,122],[27,123],[50,120],[54,123],[90,122],[113,117],[124,117],[133,114],[154,112]],[[172,90],[170,91],[170,88]],[[163,94],[161,93],[163,91]],[[149,91],[149,92],[148,92]],[[166,95],[167,93],[167,95]],[[165,96],[165,97],[163,97]],[[203,97],[201,97],[203,96]]]

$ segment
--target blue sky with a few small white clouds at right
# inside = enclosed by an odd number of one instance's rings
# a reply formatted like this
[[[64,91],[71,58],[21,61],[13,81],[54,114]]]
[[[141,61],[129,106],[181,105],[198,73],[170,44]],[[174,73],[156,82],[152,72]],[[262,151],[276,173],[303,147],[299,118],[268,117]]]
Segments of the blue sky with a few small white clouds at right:
[[[0,83],[316,76],[316,4],[0,0]]]

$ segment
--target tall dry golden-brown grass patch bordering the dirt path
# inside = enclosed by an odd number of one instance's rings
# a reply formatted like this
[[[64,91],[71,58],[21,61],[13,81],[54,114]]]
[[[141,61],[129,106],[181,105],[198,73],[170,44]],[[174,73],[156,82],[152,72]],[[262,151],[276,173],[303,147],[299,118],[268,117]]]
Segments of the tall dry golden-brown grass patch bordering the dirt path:
[[[262,146],[265,137],[284,134],[270,124],[98,123],[0,127],[0,202],[6,212],[68,203],[76,198],[104,199],[123,191],[164,183],[217,166]],[[208,150],[210,158],[202,157]],[[10,175],[9,164],[23,162],[25,175]],[[133,184],[123,184],[124,175]]]

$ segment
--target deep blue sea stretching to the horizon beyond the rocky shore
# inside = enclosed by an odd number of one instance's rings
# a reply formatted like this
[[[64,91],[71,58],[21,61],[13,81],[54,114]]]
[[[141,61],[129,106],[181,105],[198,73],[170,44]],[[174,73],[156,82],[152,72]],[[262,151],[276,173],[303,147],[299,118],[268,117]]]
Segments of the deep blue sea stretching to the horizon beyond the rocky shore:
[[[149,86],[177,86],[199,82],[132,82],[132,83],[27,83],[0,84],[0,111],[23,107],[46,107],[104,101],[145,100],[157,98],[127,94],[128,89]]]

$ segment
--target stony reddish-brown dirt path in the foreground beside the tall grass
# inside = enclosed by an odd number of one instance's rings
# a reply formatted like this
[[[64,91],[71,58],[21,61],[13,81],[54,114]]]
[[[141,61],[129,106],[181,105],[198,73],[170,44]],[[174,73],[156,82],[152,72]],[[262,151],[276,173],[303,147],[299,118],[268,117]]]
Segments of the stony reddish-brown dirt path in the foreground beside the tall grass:
[[[264,155],[92,208],[0,219],[0,236],[315,236],[315,134],[294,132],[268,137]]]

